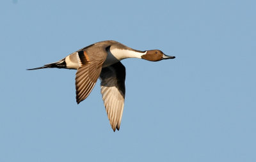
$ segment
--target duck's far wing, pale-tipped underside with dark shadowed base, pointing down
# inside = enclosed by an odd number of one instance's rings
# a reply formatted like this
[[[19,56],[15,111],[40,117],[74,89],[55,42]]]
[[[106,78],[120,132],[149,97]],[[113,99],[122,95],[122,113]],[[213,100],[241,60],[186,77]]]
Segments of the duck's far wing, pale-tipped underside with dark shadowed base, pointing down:
[[[118,62],[100,73],[101,94],[113,131],[120,129],[125,98],[125,67]]]

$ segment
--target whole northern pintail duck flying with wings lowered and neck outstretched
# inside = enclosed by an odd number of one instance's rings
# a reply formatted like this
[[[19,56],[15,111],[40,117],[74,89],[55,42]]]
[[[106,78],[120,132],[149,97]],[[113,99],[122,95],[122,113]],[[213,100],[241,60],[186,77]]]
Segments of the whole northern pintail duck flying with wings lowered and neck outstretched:
[[[92,91],[97,79],[104,106],[113,131],[120,129],[125,98],[125,66],[122,59],[140,58],[148,61],[174,59],[175,56],[165,55],[161,50],[134,50],[117,41],[100,41],[81,48],[56,63],[45,64],[43,68],[74,69],[76,72],[76,101],[79,104]]]

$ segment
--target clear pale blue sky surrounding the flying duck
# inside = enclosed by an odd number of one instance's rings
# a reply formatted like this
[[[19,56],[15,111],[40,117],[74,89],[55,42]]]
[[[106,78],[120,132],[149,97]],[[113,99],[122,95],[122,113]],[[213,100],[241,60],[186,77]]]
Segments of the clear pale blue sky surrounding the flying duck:
[[[256,161],[255,1],[0,2],[0,161]],[[176,59],[122,61],[120,131],[99,82],[26,71],[116,40]]]

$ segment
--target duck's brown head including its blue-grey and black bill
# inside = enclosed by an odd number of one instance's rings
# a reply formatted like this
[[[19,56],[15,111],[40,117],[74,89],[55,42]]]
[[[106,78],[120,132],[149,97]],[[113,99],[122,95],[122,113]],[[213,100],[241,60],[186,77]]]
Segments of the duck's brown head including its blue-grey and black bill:
[[[148,61],[161,61],[162,59],[174,59],[175,56],[165,55],[161,50],[148,50],[145,55],[141,55],[141,59]]]

